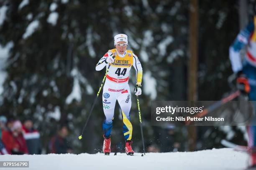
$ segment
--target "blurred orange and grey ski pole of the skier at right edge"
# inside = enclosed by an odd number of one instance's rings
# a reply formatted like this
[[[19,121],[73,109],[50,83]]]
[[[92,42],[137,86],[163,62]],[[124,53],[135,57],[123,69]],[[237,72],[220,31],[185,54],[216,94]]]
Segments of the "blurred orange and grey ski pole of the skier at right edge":
[[[225,104],[226,102],[229,102],[231,100],[233,100],[234,98],[238,97],[239,95],[241,95],[241,91],[237,90],[236,92],[233,92],[232,94],[228,95],[227,97],[223,98],[222,100],[213,103],[212,105],[210,105],[209,107],[207,107],[206,109],[202,110],[202,112],[197,113],[197,115],[195,115],[194,117],[202,117],[207,115],[209,112],[212,112],[213,110],[217,109],[218,107],[222,106],[223,104]],[[187,120],[185,121],[186,125],[189,125],[190,122],[192,122],[191,120]]]

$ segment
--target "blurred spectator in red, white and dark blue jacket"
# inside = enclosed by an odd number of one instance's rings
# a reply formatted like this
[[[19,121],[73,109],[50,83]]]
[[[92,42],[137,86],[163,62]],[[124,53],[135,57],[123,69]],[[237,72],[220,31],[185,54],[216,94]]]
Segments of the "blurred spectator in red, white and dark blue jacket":
[[[23,136],[26,140],[26,144],[28,147],[28,153],[31,155],[41,154],[40,134],[37,130],[33,128],[32,120],[25,120],[22,128],[24,132]]]

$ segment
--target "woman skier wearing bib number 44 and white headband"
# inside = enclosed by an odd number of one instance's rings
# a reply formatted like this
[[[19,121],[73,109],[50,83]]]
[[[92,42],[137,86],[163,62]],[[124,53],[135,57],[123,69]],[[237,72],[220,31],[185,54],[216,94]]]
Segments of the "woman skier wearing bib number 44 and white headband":
[[[128,36],[118,34],[114,37],[115,48],[108,50],[96,65],[96,70],[100,71],[104,67],[109,67],[105,85],[102,92],[102,105],[105,114],[102,128],[104,131],[103,153],[110,154],[110,133],[113,127],[113,118],[115,110],[115,102],[121,107],[123,117],[123,135],[125,138],[125,153],[133,155],[132,145],[133,127],[130,121],[131,110],[131,91],[128,85],[129,72],[133,66],[136,70],[136,87],[135,95],[141,95],[142,67],[138,57],[133,51],[127,50]]]

